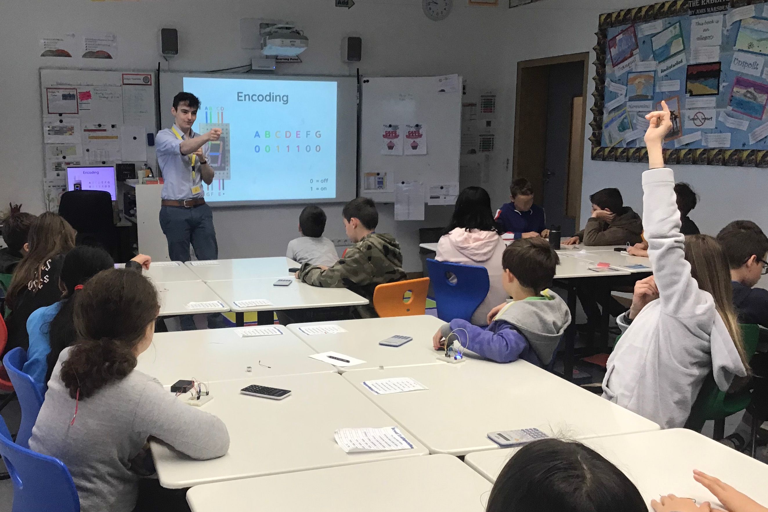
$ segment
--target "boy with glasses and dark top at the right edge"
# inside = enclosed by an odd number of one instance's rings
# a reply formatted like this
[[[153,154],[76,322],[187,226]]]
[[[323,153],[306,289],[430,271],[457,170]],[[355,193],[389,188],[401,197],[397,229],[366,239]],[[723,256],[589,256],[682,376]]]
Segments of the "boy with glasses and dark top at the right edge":
[[[754,288],[768,269],[768,237],[760,226],[750,220],[734,220],[717,233],[717,241],[730,266],[733,286],[733,306],[739,322],[768,327],[768,290]],[[768,420],[768,355],[757,352],[750,360],[753,378],[752,405],[757,424]],[[752,415],[744,413],[736,431],[723,439],[723,444],[742,451],[750,442]],[[766,461],[766,454],[758,451],[758,458]]]

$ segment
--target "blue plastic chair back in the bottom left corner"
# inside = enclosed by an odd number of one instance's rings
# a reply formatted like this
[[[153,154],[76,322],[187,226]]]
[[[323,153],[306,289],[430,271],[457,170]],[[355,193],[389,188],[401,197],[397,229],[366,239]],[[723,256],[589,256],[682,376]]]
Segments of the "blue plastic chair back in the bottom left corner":
[[[13,485],[12,512],[80,512],[80,498],[58,459],[22,448],[0,418],[0,455]]]

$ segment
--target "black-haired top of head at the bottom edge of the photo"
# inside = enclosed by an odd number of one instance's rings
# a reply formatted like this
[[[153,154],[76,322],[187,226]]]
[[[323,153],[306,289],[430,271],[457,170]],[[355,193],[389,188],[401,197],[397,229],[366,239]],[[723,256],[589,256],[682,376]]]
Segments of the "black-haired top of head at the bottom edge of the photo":
[[[637,487],[583,444],[542,439],[526,444],[502,469],[486,512],[647,512]]]

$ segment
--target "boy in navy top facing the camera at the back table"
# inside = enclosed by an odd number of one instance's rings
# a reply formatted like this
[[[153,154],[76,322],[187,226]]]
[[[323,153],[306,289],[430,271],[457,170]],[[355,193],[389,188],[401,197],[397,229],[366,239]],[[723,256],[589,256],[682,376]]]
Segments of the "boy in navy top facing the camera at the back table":
[[[510,203],[496,212],[496,223],[502,232],[512,233],[515,240],[531,236],[549,236],[545,228],[544,208],[533,203],[533,185],[525,178],[512,180],[509,185]]]

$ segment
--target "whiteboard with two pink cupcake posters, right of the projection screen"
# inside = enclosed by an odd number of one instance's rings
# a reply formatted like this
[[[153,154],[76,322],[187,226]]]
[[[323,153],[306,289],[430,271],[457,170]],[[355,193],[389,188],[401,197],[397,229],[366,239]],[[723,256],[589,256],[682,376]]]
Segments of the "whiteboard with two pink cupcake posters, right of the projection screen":
[[[395,201],[394,183],[419,181],[425,187],[458,183],[462,78],[453,92],[439,92],[437,77],[362,78],[360,84],[359,194],[377,203]],[[427,153],[382,154],[384,126],[422,124]],[[386,173],[384,191],[366,190],[366,178]]]

